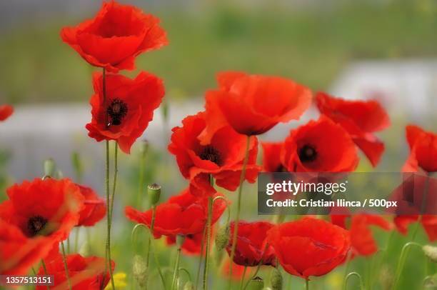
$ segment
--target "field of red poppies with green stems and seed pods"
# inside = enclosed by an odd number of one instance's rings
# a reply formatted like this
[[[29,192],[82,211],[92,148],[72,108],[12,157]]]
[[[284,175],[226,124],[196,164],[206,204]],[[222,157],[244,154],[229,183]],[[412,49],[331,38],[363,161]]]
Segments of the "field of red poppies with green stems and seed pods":
[[[204,111],[181,120],[157,151],[141,136],[156,110],[168,114],[165,79],[137,68],[136,56],[171,46],[158,16],[108,1],[60,36],[76,61],[94,67],[86,130],[102,144],[104,192],[83,184],[90,173],[81,152],[71,155],[74,176],[47,159],[32,180],[0,179],[1,286],[19,284],[8,280],[14,276],[52,275],[54,283],[36,289],[437,289],[437,216],[256,214],[260,172],[353,172],[361,161],[376,167],[386,149],[377,134],[391,126],[378,101],[221,71],[204,92]],[[282,141],[258,140],[311,107],[316,119]],[[13,114],[0,104],[0,126]],[[410,153],[398,156],[404,164],[393,171],[416,172],[433,196],[437,134],[419,125],[403,125]],[[135,169],[119,169],[129,155]],[[167,178],[158,184],[159,172]],[[178,191],[168,192],[180,177]]]

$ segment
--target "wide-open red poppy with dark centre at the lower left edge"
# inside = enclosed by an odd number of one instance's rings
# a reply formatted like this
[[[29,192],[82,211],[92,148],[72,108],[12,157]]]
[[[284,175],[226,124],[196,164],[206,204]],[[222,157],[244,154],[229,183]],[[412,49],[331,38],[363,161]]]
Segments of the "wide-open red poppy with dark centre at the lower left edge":
[[[17,226],[24,236],[47,236],[63,241],[79,221],[84,197],[69,179],[34,179],[6,190],[0,219]]]

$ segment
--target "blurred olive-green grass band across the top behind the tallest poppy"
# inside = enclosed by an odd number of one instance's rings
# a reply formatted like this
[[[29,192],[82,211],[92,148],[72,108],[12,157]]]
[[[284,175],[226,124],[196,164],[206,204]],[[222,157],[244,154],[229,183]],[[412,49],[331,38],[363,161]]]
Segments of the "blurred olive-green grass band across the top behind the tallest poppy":
[[[137,67],[161,76],[170,98],[201,96],[226,69],[287,76],[318,90],[356,59],[437,54],[433,0],[123,2],[156,14],[168,31],[170,45],[141,55]],[[77,5],[84,3],[91,1]],[[91,68],[59,37],[62,26],[94,15],[86,7],[38,19],[30,13],[0,30],[2,101],[88,100]]]

